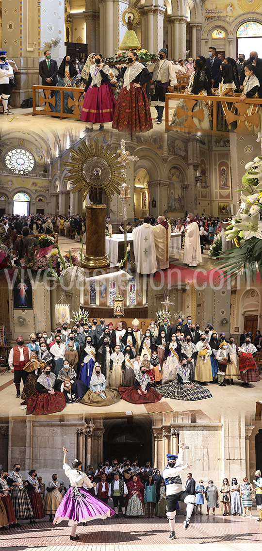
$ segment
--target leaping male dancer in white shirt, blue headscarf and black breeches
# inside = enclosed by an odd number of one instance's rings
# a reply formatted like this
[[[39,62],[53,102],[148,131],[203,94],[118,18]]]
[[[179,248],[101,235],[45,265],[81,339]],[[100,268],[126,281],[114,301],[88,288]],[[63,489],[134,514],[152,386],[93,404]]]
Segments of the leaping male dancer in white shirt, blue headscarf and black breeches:
[[[168,464],[164,468],[162,477],[165,483],[165,491],[167,494],[167,517],[169,520],[169,526],[171,532],[169,539],[175,539],[175,515],[177,513],[177,502],[182,501],[186,503],[186,519],[184,521],[184,529],[189,527],[190,517],[194,510],[195,496],[183,491],[182,480],[180,478],[181,471],[189,469],[191,465],[186,463],[183,465],[184,460],[184,444],[180,444],[178,455],[170,455],[167,453]]]

